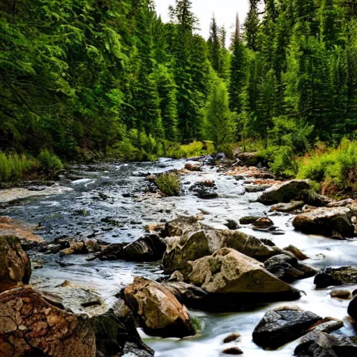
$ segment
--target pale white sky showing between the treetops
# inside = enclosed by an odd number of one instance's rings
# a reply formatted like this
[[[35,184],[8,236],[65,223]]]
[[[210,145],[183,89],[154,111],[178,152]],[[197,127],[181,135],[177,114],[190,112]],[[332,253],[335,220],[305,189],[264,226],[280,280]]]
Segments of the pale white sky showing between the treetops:
[[[164,22],[169,19],[167,8],[174,3],[175,0],[155,0],[156,11]],[[243,24],[248,12],[248,0],[192,0],[192,11],[199,18],[199,27],[204,38],[208,38],[209,24],[213,13],[217,18],[218,25],[225,24],[227,34],[230,35],[234,31],[237,11],[241,24]]]

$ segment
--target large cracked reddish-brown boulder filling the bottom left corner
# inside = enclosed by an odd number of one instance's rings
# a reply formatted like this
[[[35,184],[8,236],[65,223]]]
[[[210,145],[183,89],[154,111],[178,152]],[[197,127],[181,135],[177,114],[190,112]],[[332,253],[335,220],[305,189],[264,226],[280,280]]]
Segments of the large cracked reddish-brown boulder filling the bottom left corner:
[[[95,357],[96,338],[86,315],[19,287],[0,294],[0,351],[3,357]]]

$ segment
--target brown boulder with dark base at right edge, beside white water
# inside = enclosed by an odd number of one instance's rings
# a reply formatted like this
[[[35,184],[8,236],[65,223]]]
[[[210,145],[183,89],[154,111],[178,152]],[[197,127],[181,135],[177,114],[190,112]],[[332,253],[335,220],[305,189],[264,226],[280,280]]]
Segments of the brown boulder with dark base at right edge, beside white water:
[[[317,208],[314,211],[301,213],[293,220],[294,228],[305,234],[332,236],[334,232],[343,237],[354,236],[354,225],[351,222],[351,210],[347,207]]]

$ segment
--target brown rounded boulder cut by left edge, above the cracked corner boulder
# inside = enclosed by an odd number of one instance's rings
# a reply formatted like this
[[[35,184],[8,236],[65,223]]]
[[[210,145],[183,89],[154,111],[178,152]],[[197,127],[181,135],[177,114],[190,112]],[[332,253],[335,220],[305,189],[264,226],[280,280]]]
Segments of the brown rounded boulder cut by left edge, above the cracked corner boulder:
[[[22,250],[19,238],[0,236],[0,292],[12,289],[19,282],[28,284],[31,261]]]

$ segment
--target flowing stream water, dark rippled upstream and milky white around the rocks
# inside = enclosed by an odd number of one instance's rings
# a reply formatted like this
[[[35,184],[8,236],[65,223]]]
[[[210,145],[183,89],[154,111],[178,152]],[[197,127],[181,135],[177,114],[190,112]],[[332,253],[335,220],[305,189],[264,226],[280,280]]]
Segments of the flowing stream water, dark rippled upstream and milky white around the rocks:
[[[73,181],[63,182],[73,190],[62,195],[30,199],[0,210],[0,215],[24,220],[38,225],[36,234],[52,240],[59,236],[96,237],[111,243],[130,242],[141,236],[144,225],[165,222],[176,215],[196,215],[206,211],[205,222],[222,227],[227,219],[245,215],[267,213],[274,224],[285,231],[282,236],[242,228],[241,231],[259,238],[269,238],[278,247],[295,245],[310,257],[304,261],[314,267],[346,266],[357,262],[357,241],[334,241],[321,236],[307,236],[294,231],[293,215],[271,214],[269,208],[255,202],[257,194],[244,193],[243,181],[219,173],[217,168],[204,167],[204,172],[183,176],[184,194],[180,197],[160,198],[144,195],[143,174],[181,169],[184,160],[160,159],[154,163],[113,163],[103,165],[78,165],[70,168]],[[75,176],[74,176],[75,175]],[[70,176],[71,177],[71,176]],[[198,199],[188,190],[192,183],[204,179],[214,180],[218,187],[216,199]],[[108,224],[108,220],[116,225]],[[42,269],[33,271],[32,280],[71,280],[96,289],[110,303],[114,295],[135,276],[156,279],[161,276],[160,263],[133,263],[127,261],[86,261],[85,256],[39,255],[33,259],[45,261]],[[298,305],[322,317],[344,320],[344,328],[336,333],[355,335],[354,326],[347,317],[349,301],[329,296],[328,289],[315,289],[314,278],[294,282],[294,287],[305,291],[298,301],[257,305],[245,312],[211,314],[191,313],[202,324],[202,333],[183,340],[162,339],[145,335],[145,342],[155,350],[155,356],[220,356],[220,351],[235,344],[222,344],[222,339],[232,332],[241,334],[236,344],[245,356],[292,356],[298,341],[291,342],[278,351],[264,351],[252,342],[252,331],[266,310],[280,305]],[[351,291],[357,286],[348,287]]]

